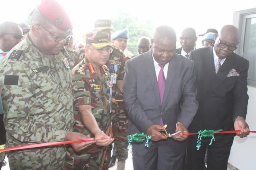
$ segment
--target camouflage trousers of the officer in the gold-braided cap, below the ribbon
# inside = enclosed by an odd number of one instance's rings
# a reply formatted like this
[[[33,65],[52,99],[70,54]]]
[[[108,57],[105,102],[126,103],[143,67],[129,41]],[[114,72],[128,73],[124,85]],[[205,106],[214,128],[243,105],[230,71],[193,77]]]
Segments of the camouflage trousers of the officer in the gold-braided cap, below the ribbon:
[[[67,170],[99,170],[105,147],[91,145],[82,151],[76,152],[72,147],[66,151],[66,169]],[[108,145],[107,153],[104,158],[102,170],[108,170],[111,158],[112,145]]]

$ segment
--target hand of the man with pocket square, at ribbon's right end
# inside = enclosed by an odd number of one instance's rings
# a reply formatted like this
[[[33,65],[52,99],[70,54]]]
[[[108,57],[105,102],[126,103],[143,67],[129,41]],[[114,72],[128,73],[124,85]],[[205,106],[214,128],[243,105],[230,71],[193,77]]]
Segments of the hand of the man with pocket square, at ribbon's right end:
[[[237,133],[237,136],[239,136],[240,138],[243,138],[249,135],[250,129],[243,117],[236,118],[234,122],[234,129],[241,130],[240,132]]]

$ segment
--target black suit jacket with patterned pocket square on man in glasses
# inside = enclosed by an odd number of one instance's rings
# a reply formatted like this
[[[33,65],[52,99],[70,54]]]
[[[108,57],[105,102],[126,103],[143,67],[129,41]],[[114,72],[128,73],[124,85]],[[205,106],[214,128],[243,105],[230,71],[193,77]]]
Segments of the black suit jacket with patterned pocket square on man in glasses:
[[[234,130],[234,117],[247,114],[247,73],[249,62],[232,53],[215,74],[213,48],[200,48],[190,53],[195,63],[199,108],[190,124],[190,133],[199,130]],[[231,69],[239,76],[227,77]]]

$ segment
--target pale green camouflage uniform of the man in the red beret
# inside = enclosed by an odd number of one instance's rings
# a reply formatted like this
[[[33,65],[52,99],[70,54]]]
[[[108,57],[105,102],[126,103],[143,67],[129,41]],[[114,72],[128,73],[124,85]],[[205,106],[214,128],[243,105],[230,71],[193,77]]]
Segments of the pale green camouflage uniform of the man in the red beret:
[[[72,56],[46,56],[29,36],[0,63],[6,147],[63,141],[73,131]],[[64,145],[9,151],[11,170],[63,170]]]

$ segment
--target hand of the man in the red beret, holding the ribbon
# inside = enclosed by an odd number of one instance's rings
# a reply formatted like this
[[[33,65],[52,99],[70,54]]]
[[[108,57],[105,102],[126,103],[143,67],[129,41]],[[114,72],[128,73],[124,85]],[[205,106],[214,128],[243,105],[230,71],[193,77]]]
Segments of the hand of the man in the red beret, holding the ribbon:
[[[72,143],[72,147],[75,151],[81,151],[85,148],[87,148],[89,145],[92,145],[96,141],[93,140],[93,138],[90,138],[90,135],[83,135],[81,133],[75,133],[75,132],[66,132],[65,141],[73,141],[73,140],[89,140],[86,142],[79,142],[79,143]]]

